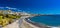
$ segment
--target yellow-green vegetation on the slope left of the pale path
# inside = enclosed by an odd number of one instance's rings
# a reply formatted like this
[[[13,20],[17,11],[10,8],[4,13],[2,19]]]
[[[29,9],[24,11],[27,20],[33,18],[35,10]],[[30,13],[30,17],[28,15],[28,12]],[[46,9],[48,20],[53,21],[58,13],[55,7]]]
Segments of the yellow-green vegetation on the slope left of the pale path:
[[[12,22],[14,22],[14,19],[17,20],[20,17],[20,15],[0,13],[0,25],[6,26],[7,24],[11,24]]]

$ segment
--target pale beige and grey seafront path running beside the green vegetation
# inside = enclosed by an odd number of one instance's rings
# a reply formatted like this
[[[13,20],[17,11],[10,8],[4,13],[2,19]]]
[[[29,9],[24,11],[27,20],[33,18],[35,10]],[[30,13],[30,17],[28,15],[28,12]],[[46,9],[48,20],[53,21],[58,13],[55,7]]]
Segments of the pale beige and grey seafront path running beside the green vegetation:
[[[3,28],[20,28],[22,22],[23,22],[23,19],[27,18],[29,16],[22,16],[19,20],[16,20],[15,22],[13,22],[12,24],[9,24]]]

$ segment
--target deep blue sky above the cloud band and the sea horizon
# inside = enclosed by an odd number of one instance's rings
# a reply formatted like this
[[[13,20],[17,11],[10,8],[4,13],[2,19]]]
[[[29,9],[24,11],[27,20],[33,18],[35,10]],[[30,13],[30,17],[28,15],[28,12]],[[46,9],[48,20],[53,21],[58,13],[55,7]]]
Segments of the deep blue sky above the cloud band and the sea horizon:
[[[34,14],[60,14],[60,0],[0,0],[0,7],[6,6]]]

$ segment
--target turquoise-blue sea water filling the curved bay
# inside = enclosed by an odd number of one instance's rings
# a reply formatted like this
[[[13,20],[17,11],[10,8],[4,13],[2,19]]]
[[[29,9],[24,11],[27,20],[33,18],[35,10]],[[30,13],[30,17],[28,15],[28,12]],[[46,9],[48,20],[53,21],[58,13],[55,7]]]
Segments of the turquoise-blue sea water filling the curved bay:
[[[36,17],[32,17],[30,20],[37,23],[43,23],[49,26],[60,25],[60,15],[36,16]]]

